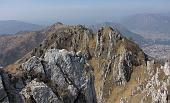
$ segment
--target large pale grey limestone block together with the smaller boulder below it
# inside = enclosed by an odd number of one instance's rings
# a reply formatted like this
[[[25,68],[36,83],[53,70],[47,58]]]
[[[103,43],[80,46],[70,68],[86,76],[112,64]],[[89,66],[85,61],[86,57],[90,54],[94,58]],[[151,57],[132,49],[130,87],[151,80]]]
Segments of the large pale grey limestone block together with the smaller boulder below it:
[[[34,56],[23,63],[22,68],[26,76],[42,81],[31,81],[23,88],[21,94],[25,101],[96,103],[93,73],[80,52],[50,49],[43,59]]]

